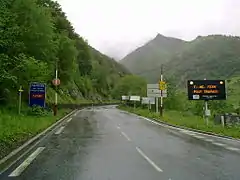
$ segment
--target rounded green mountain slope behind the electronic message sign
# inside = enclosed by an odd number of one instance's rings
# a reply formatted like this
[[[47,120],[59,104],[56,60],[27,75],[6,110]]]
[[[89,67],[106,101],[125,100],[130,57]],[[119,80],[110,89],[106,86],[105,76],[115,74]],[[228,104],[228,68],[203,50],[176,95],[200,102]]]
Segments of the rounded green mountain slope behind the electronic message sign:
[[[181,82],[186,79],[229,79],[240,75],[239,47],[239,37],[199,37],[166,63],[166,72]]]

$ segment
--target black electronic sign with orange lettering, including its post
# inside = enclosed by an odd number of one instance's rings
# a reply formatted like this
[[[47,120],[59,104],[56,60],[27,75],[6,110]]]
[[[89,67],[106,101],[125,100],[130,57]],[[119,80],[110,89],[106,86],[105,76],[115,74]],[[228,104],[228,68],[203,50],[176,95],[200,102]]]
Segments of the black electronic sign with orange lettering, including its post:
[[[188,80],[188,100],[204,100],[204,119],[209,125],[210,100],[226,100],[225,80]]]

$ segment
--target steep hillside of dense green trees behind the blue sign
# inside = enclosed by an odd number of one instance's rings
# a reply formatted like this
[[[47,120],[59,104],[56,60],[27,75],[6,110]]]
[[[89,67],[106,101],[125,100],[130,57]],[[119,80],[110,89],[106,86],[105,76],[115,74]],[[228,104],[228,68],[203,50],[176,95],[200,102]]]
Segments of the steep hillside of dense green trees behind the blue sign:
[[[128,73],[90,47],[57,2],[2,0],[0,6],[0,104],[15,103],[20,85],[27,100],[29,83],[36,81],[47,83],[52,102],[56,66],[60,102],[110,99],[115,83]]]

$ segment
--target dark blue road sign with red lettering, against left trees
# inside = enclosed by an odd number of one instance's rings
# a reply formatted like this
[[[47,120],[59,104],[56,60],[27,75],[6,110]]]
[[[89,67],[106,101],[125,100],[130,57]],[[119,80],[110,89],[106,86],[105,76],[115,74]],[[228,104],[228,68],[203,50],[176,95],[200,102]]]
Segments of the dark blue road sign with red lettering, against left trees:
[[[31,83],[29,88],[29,106],[37,105],[45,107],[46,85],[43,83]]]

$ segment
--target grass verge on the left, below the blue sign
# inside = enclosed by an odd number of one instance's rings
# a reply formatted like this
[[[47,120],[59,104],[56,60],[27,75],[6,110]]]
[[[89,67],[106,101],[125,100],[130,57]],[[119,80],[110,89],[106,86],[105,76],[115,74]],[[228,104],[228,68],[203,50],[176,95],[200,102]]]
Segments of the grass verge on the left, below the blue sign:
[[[70,109],[61,109],[55,117],[51,112],[33,116],[27,112],[18,115],[13,110],[0,110],[0,159],[69,112]]]

